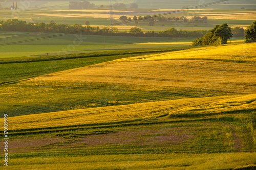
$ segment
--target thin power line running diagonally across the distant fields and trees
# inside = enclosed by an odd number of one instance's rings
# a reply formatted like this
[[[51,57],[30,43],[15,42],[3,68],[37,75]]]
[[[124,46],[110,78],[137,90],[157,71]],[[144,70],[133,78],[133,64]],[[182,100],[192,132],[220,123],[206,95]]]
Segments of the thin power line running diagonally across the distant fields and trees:
[[[213,5],[213,4],[218,4],[218,3],[221,3],[221,2],[225,2],[225,1],[228,1],[228,0],[220,0],[220,1],[212,2],[212,3],[207,3],[207,4],[204,4],[204,5],[198,5],[198,6],[189,7],[189,8],[185,8],[185,9],[181,9],[181,10],[170,11],[170,12],[162,13],[162,14],[159,14],[159,15],[154,15],[153,17],[145,17],[145,18],[137,19],[137,20],[145,20],[145,19],[155,18],[155,17],[158,17],[158,16],[163,16],[163,15],[167,15],[167,14],[173,14],[173,13],[181,12],[181,11],[184,11],[184,10],[187,10],[187,9],[195,9],[195,8],[205,7],[205,6],[209,6],[209,5]],[[134,21],[125,21],[125,22],[122,22],[122,23],[130,23],[130,22],[134,22]],[[118,25],[121,25],[121,23],[119,23],[119,22],[118,23],[113,23],[112,25],[102,26],[101,28],[118,26]],[[62,34],[58,34],[58,35],[51,35],[51,36],[46,36],[46,37],[33,38],[33,39],[29,39],[29,40],[10,42],[10,43],[2,44],[0,46],[13,45],[13,44],[19,44],[19,43],[24,43],[24,42],[54,38],[54,37],[59,37],[59,36],[67,35],[67,34],[82,33],[84,31],[87,31],[87,30],[79,30],[79,31],[73,31],[73,32],[69,32],[69,33],[62,33]]]

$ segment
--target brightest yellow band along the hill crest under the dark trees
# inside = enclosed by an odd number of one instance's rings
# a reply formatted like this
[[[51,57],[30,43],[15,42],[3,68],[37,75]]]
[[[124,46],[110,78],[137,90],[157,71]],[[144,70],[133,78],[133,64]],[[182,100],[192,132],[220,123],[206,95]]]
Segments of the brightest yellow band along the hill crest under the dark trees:
[[[209,46],[184,51],[162,53],[157,55],[145,55],[123,59],[122,61],[153,61],[174,59],[215,59],[234,60],[237,62],[248,61],[255,63],[256,43],[249,44],[227,44],[222,46]],[[121,61],[121,60],[118,60]]]

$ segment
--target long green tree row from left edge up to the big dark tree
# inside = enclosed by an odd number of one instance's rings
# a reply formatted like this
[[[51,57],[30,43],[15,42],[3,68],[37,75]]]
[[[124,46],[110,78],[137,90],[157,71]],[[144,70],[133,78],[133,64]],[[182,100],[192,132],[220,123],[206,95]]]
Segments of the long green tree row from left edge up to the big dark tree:
[[[26,21],[18,19],[8,19],[7,21],[0,21],[0,31],[20,31],[20,32],[51,32],[51,33],[76,33],[88,35],[113,35],[113,36],[144,36],[144,37],[200,37],[206,34],[206,30],[197,31],[183,31],[170,28],[166,31],[147,31],[143,32],[140,28],[131,28],[129,32],[119,32],[116,27],[110,29],[109,27],[99,28],[92,26],[82,26],[75,23],[74,25],[56,24],[51,21],[49,24],[41,23],[27,23]],[[112,31],[111,31],[112,30]]]

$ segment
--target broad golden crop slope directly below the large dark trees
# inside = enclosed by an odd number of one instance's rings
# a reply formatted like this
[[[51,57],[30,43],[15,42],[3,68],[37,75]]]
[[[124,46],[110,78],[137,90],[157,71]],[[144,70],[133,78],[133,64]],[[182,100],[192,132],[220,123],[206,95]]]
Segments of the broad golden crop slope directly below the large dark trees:
[[[256,43],[223,45],[144,55],[56,72],[30,81],[69,80],[255,93],[255,46]]]

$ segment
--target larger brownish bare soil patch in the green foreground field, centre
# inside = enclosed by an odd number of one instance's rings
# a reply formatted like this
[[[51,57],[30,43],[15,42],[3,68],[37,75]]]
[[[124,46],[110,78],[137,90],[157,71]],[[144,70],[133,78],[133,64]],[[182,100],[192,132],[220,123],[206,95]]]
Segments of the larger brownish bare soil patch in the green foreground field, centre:
[[[165,128],[159,130],[132,130],[118,131],[110,134],[91,135],[82,138],[77,144],[86,143],[88,146],[105,144],[142,144],[142,145],[166,145],[184,142],[193,135],[187,134],[180,128]]]

